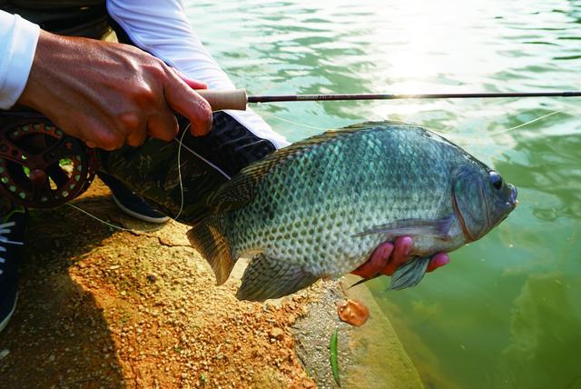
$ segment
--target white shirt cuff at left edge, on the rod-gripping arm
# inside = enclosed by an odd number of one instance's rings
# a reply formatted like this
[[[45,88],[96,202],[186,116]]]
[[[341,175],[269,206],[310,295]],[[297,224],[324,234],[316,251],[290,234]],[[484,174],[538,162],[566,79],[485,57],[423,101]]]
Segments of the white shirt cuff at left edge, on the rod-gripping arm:
[[[25,90],[40,27],[0,11],[0,109],[8,109]]]

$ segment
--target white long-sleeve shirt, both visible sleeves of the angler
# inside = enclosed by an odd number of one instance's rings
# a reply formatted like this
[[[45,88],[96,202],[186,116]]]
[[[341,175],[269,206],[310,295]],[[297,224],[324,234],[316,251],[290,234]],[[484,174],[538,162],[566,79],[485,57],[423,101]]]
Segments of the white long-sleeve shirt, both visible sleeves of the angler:
[[[192,31],[180,0],[107,0],[107,11],[133,43],[201,80],[210,89],[232,89],[234,85]],[[15,105],[22,94],[39,35],[34,25],[18,15],[0,11],[0,108]],[[288,145],[251,110],[227,111],[254,135],[269,139],[278,148]]]

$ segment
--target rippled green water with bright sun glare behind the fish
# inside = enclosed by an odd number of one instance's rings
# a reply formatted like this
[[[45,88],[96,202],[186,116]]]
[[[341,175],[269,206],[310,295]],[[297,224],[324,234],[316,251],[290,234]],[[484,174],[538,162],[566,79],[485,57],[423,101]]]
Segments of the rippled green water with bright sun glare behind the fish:
[[[251,94],[581,89],[581,1],[186,3]],[[370,287],[427,387],[581,387],[581,99],[256,109],[291,141],[366,120],[424,125],[517,185],[517,210],[447,268],[402,292]]]

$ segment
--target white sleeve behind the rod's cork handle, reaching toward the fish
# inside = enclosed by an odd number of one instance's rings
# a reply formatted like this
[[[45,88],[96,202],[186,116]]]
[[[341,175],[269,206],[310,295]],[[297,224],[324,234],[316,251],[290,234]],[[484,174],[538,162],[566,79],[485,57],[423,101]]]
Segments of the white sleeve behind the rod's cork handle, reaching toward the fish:
[[[193,33],[180,0],[107,0],[107,11],[141,49],[179,69],[184,75],[208,84],[210,89],[232,89],[220,65]],[[226,111],[254,135],[271,140],[278,148],[288,145],[251,110]]]

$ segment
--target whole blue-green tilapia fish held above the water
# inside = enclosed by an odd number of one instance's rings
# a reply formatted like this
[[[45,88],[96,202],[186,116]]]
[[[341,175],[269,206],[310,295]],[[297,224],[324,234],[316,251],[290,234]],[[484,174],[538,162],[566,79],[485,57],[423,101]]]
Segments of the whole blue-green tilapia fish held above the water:
[[[391,289],[418,284],[431,255],[473,242],[507,217],[517,190],[443,137],[395,122],[352,125],[249,165],[209,199],[188,233],[224,283],[252,256],[239,299],[294,293],[366,262],[381,243],[413,237]]]

